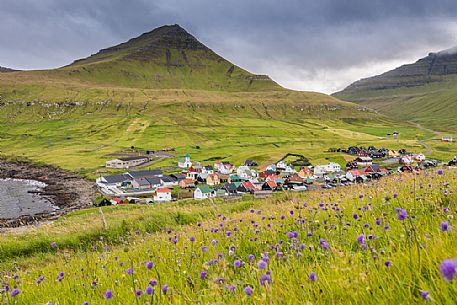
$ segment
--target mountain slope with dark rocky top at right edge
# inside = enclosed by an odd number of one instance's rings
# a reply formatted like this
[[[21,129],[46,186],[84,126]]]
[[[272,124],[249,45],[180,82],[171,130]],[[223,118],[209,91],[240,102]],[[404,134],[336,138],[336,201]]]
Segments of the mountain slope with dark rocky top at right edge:
[[[395,119],[457,131],[457,48],[356,81],[333,96]]]

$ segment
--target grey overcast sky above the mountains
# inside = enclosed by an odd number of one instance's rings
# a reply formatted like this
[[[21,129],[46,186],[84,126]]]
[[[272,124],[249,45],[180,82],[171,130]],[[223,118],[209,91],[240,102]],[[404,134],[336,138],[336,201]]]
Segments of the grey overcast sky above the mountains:
[[[457,46],[455,0],[0,0],[0,66],[54,68],[178,23],[297,90],[331,93]]]

